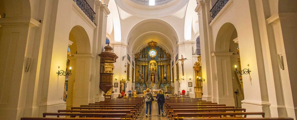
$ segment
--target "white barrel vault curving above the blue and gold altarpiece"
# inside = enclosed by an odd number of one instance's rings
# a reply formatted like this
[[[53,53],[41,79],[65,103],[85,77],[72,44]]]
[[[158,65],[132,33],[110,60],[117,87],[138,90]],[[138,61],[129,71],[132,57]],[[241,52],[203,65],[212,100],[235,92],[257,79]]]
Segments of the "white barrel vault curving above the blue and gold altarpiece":
[[[155,41],[168,53],[176,49],[176,30],[167,22],[159,19],[147,19],[132,27],[127,35],[127,43],[130,43],[130,51],[138,52],[145,47],[148,42]]]

